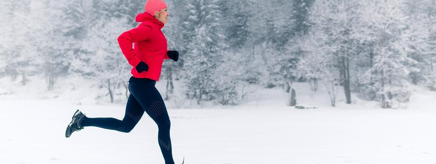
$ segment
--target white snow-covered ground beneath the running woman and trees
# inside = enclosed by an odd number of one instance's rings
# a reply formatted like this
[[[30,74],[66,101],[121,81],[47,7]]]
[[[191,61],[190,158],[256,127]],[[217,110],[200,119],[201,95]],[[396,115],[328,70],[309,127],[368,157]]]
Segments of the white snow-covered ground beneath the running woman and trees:
[[[333,108],[321,88],[312,97],[306,90],[297,101],[317,109],[286,106],[280,89],[238,106],[169,108],[176,164],[436,164],[435,92],[416,87],[407,109],[380,109],[359,99],[347,105],[341,94]],[[164,163],[150,117],[130,133],[85,127],[65,138],[76,109],[122,119],[125,104],[54,97],[0,96],[0,164]]]

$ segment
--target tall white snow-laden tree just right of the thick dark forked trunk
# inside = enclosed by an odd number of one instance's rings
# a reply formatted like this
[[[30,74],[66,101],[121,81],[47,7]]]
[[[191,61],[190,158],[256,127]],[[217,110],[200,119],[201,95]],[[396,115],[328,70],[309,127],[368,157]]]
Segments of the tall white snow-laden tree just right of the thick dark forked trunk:
[[[407,102],[409,91],[408,65],[416,63],[407,56],[408,41],[405,37],[407,17],[402,0],[368,0],[364,6],[362,23],[367,24],[366,33],[374,43],[372,66],[363,76],[366,84],[375,90],[381,107],[392,108]]]

